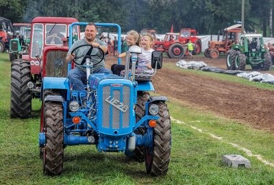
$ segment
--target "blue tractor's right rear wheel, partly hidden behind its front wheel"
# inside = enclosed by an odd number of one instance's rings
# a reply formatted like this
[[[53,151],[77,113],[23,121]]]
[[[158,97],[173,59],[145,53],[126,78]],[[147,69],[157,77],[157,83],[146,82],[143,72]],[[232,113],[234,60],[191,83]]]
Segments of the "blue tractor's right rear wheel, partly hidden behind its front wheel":
[[[137,104],[135,107],[136,113],[136,123],[145,116],[145,102],[149,99],[150,95],[147,92],[140,92],[138,93],[137,97]],[[139,127],[137,130],[134,131],[135,134],[145,134],[145,128]],[[132,153],[132,157],[134,160],[138,162],[144,162],[145,160],[145,148],[140,146],[136,147]]]

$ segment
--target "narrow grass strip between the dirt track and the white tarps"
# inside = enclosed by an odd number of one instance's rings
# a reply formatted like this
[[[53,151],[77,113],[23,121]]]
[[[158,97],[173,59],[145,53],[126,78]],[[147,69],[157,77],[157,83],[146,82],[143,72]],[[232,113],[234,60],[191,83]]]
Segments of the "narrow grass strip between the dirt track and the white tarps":
[[[226,74],[212,73],[212,72],[207,72],[207,71],[182,69],[182,68],[177,67],[175,64],[172,64],[172,63],[164,64],[164,68],[172,69],[172,70],[175,70],[175,71],[181,71],[181,72],[184,72],[184,73],[187,73],[187,74],[195,74],[195,75],[203,75],[203,76],[206,76],[206,77],[212,77],[214,79],[219,79],[221,81],[226,81],[226,82],[240,83],[240,84],[244,84],[246,86],[253,86],[253,87],[256,87],[256,88],[265,88],[265,89],[268,89],[268,90],[274,90],[274,86],[272,84],[262,84],[260,82],[249,82],[248,79],[245,79],[245,78],[242,78],[242,77],[237,77],[236,75],[226,75]],[[274,67],[272,67],[271,70],[274,70]]]

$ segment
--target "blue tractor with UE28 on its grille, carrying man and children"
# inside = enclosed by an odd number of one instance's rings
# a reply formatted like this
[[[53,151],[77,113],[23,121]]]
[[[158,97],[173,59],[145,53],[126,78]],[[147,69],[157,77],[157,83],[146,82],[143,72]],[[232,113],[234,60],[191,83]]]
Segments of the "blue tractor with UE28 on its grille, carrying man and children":
[[[69,47],[72,27],[86,24],[70,25]],[[121,51],[121,27],[110,23],[95,24],[118,29],[118,51]],[[151,79],[140,76],[138,79],[134,74],[138,53],[138,47],[127,51],[125,77],[90,74],[90,69],[96,65],[90,59],[95,56],[82,56],[86,58],[85,91],[72,90],[68,77],[42,79],[39,145],[45,175],[62,173],[64,148],[70,145],[95,145],[99,152],[122,152],[140,162],[145,161],[147,173],[153,176],[166,174],[171,154],[167,99],[150,97],[149,91],[154,90]],[[101,60],[105,57],[103,51],[100,57]],[[132,71],[129,71],[129,61]],[[151,66],[155,72],[162,68],[161,51],[153,51]],[[68,70],[71,70],[71,64]],[[82,102],[85,96],[88,99]]]

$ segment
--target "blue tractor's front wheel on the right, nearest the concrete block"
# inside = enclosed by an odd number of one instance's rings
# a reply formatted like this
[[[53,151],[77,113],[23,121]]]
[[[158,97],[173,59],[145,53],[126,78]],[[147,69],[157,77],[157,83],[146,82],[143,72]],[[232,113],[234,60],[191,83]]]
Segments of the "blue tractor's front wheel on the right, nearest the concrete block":
[[[153,130],[153,148],[149,153],[149,148],[145,149],[145,164],[147,173],[152,176],[166,175],[169,169],[171,155],[171,117],[166,103],[157,103],[159,113],[157,125]]]

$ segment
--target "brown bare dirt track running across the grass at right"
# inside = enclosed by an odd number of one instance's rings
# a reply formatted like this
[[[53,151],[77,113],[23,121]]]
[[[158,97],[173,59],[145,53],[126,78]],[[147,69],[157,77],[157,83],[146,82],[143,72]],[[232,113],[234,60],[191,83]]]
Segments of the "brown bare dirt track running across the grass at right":
[[[193,60],[226,69],[225,58],[211,60],[195,56]],[[164,58],[164,63],[172,62],[175,65],[177,61]],[[266,71],[272,74],[273,72]],[[184,71],[177,72],[164,67],[153,77],[153,85],[157,93],[166,97],[174,97],[227,118],[251,123],[253,127],[274,132],[273,90],[223,82],[201,75],[189,75]]]

